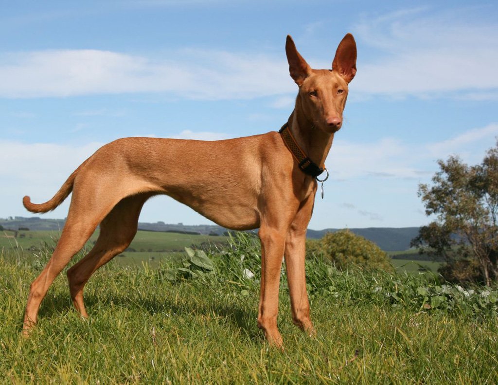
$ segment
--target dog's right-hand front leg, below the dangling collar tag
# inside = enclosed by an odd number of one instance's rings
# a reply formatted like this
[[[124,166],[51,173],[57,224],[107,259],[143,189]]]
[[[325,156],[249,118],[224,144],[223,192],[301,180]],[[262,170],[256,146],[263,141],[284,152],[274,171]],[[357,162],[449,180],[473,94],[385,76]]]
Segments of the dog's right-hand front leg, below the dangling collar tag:
[[[306,291],[304,260],[306,254],[306,229],[313,211],[315,194],[310,194],[294,218],[285,240],[285,269],[289,286],[292,321],[309,335],[315,334],[310,319],[310,305]]]

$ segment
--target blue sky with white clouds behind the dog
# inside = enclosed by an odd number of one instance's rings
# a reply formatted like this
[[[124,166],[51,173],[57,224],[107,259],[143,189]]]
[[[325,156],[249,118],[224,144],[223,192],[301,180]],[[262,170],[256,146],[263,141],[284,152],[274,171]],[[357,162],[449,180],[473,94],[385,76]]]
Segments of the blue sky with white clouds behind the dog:
[[[309,227],[427,224],[417,189],[437,160],[496,144],[496,1],[2,1],[0,217],[33,216],[22,196],[48,200],[118,138],[277,131],[297,94],[286,35],[331,68],[347,32],[358,72]],[[140,221],[211,223],[166,196]]]

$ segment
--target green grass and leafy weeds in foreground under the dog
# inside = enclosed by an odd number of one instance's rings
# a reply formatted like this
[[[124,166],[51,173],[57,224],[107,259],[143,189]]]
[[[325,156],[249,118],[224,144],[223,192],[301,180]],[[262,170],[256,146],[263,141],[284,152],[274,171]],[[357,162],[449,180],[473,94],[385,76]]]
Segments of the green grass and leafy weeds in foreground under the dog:
[[[91,317],[86,321],[72,309],[65,277],[60,276],[29,339],[20,337],[21,317],[40,264],[20,252],[4,252],[4,381],[498,382],[497,289],[450,287],[424,275],[338,271],[310,260],[307,279],[318,335],[308,338],[292,325],[282,276],[279,329],[285,351],[269,349],[255,322],[258,282],[242,276],[244,268],[259,276],[255,246],[250,237],[231,239],[230,248],[210,255],[212,271],[189,265],[196,273],[187,275],[194,277],[189,279],[178,270],[188,258],[156,269],[147,264],[124,268],[113,261],[86,288]]]

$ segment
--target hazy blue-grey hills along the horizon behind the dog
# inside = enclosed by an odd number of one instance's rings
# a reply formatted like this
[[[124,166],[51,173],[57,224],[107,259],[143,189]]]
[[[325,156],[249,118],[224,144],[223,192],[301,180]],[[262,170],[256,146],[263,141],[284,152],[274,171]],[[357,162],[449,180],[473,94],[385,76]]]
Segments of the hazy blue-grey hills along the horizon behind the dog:
[[[29,228],[30,230],[61,230],[64,226],[65,219],[45,219],[39,216],[30,218],[15,216],[7,219],[0,218],[0,225],[6,229],[17,230],[19,227]],[[201,225],[184,225],[183,223],[170,224],[162,221],[156,223],[138,222],[140,230],[148,231],[174,231],[180,233],[192,234],[223,234],[226,228],[201,224]],[[406,250],[410,247],[410,240],[418,235],[418,227],[368,227],[368,228],[350,228],[355,234],[361,235],[375,242],[382,250],[398,251]],[[326,228],[324,230],[308,229],[309,238],[321,238],[327,232],[334,232],[337,228]]]

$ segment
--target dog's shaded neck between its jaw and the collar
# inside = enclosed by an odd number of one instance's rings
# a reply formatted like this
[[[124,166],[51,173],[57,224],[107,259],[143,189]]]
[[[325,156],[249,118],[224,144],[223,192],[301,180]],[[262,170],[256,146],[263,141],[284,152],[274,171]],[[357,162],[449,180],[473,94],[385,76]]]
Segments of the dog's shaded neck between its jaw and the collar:
[[[323,168],[334,140],[334,134],[326,133],[316,127],[299,108],[299,104],[300,96],[297,97],[296,107],[287,121],[289,130],[304,153]]]

